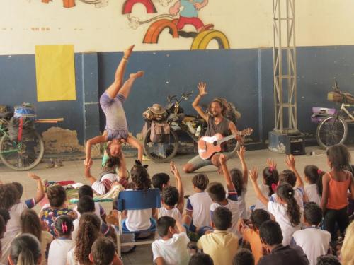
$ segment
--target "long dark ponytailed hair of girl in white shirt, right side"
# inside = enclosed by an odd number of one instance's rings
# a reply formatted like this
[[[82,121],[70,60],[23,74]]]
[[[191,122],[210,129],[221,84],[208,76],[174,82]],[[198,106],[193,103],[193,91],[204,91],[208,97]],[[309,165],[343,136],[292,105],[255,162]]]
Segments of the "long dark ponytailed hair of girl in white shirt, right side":
[[[295,200],[295,190],[292,189],[290,184],[282,183],[278,186],[277,195],[287,204],[287,216],[290,219],[290,224],[292,226],[299,225],[301,213]]]

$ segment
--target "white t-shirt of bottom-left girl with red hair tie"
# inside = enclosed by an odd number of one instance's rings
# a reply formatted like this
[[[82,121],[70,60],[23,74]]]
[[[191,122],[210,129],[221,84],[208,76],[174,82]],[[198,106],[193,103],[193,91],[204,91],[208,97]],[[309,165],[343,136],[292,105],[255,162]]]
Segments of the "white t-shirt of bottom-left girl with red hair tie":
[[[48,265],[67,264],[67,254],[75,245],[74,240],[56,239],[50,244]]]

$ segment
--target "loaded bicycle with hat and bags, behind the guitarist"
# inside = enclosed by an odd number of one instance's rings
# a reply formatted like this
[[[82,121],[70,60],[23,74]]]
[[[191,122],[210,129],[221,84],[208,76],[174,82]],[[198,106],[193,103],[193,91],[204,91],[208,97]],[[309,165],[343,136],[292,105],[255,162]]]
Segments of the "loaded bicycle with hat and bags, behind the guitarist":
[[[144,153],[156,163],[169,162],[178,152],[178,134],[187,134],[195,147],[200,136],[205,134],[207,123],[198,115],[185,114],[181,102],[188,100],[192,92],[183,93],[180,98],[176,95],[168,96],[166,107],[154,104],[143,113],[145,120],[143,129]],[[234,105],[226,102],[227,118],[236,123],[241,114]],[[236,151],[239,143],[236,139],[227,142],[229,151]]]

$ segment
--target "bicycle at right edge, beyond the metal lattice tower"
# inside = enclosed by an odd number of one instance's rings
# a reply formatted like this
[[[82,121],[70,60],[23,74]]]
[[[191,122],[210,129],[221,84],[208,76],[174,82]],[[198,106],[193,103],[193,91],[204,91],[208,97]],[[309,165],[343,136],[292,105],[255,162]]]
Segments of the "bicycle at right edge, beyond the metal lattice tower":
[[[316,139],[322,148],[344,143],[348,136],[348,124],[354,123],[354,111],[348,110],[354,107],[353,95],[342,92],[336,80],[332,89],[327,99],[341,104],[341,107],[334,114],[325,117],[317,126]]]

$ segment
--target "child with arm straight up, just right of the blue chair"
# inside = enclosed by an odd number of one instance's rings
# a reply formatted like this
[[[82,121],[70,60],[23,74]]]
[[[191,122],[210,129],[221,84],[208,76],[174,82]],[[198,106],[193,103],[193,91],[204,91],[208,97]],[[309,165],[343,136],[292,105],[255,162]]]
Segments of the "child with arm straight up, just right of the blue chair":
[[[184,191],[181,175],[176,164],[171,161],[171,172],[176,177],[178,189],[172,186],[164,187],[161,194],[162,207],[159,208],[159,217],[171,216],[176,220],[181,220],[184,208]]]

